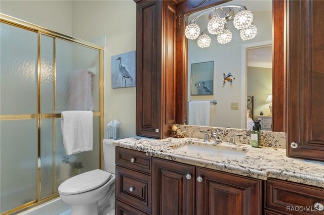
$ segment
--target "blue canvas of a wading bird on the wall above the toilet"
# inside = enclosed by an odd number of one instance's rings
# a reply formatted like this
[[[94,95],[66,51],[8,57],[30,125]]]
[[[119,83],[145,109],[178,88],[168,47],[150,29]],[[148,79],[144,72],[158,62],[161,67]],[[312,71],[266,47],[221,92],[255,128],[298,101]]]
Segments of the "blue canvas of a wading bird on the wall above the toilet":
[[[136,51],[111,57],[111,88],[136,86]]]

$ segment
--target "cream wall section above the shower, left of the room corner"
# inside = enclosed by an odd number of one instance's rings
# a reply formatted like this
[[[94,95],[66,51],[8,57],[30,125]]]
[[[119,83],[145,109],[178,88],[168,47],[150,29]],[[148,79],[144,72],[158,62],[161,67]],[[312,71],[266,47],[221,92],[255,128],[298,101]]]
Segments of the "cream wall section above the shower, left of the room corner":
[[[72,35],[71,1],[0,1],[0,12]]]

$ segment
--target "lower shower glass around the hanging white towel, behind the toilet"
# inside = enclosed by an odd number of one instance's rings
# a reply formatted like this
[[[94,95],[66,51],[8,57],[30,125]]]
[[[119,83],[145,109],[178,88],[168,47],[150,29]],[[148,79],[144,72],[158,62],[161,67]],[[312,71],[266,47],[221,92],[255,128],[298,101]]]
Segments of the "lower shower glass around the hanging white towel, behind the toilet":
[[[77,154],[67,155],[63,145],[61,120],[56,119],[56,182],[55,192],[58,186],[66,179],[90,170],[99,169],[99,117],[93,118],[93,150]]]

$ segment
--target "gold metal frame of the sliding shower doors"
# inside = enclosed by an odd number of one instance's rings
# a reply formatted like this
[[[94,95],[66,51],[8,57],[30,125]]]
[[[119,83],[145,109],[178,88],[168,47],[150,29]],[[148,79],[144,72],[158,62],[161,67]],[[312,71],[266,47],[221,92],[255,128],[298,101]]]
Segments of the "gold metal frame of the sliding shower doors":
[[[29,209],[31,207],[43,204],[50,200],[59,197],[58,193],[54,193],[45,198],[41,198],[41,119],[53,119],[53,142],[52,142],[52,153],[53,153],[53,187],[55,190],[55,149],[56,149],[56,121],[55,119],[61,118],[61,114],[56,114],[56,38],[82,45],[88,48],[92,48],[99,51],[99,112],[94,112],[94,117],[99,117],[99,168],[103,169],[103,151],[101,141],[103,139],[103,60],[104,60],[104,47],[80,40],[74,37],[70,37],[58,32],[25,22],[5,14],[0,13],[0,22],[6,23],[19,28],[24,28],[29,31],[34,31],[37,33],[37,114],[19,114],[19,115],[0,115],[0,120],[28,120],[37,119],[37,199],[31,202],[25,203],[11,210],[3,212],[1,215],[5,214],[16,214],[23,210]],[[53,38],[53,113],[41,114],[41,35],[50,36]]]

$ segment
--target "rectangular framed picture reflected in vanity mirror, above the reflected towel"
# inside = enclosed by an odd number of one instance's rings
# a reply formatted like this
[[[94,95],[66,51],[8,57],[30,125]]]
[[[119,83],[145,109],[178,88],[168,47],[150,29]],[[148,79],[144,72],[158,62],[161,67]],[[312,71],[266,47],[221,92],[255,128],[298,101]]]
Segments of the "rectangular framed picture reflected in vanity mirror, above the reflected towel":
[[[191,64],[191,95],[214,95],[214,61]]]

